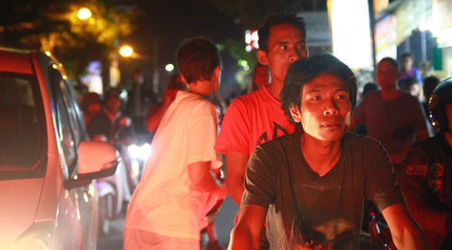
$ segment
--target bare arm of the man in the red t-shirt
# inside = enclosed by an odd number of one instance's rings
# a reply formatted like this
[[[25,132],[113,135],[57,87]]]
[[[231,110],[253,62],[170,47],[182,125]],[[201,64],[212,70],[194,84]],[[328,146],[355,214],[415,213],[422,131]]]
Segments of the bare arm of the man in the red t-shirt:
[[[228,151],[226,153],[226,186],[229,195],[240,207],[241,196],[245,188],[245,170],[247,168],[248,154]]]

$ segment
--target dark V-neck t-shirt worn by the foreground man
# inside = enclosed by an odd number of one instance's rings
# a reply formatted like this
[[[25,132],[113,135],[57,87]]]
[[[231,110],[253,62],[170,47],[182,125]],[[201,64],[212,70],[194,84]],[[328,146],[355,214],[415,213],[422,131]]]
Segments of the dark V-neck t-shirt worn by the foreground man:
[[[352,236],[361,233],[364,199],[380,210],[404,202],[388,153],[371,138],[346,133],[340,159],[320,177],[301,152],[302,133],[256,148],[247,165],[241,206],[268,208],[270,249],[289,249],[311,240],[318,244],[336,240],[347,249]]]

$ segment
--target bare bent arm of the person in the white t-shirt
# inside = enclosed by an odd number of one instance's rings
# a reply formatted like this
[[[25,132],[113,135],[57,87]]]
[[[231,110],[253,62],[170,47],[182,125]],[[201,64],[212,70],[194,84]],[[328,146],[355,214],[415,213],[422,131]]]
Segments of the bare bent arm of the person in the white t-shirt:
[[[220,199],[226,197],[226,187],[211,171],[211,162],[193,162],[188,165],[188,177],[193,188],[216,193]]]

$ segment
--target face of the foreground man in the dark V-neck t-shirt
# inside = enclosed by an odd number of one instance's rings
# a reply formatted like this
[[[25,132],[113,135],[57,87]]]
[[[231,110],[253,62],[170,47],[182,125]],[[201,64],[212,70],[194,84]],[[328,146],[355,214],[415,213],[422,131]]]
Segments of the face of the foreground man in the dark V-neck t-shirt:
[[[325,142],[339,141],[350,125],[351,106],[342,79],[322,73],[306,83],[300,93],[298,118],[306,134]]]

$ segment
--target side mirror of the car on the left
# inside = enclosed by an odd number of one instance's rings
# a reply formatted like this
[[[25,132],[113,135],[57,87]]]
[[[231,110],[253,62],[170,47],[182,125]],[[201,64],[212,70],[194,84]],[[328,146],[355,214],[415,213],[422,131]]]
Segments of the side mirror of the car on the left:
[[[107,177],[115,173],[119,153],[105,142],[85,141],[79,144],[79,174],[67,181],[67,188],[82,186],[93,179]]]

